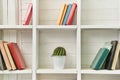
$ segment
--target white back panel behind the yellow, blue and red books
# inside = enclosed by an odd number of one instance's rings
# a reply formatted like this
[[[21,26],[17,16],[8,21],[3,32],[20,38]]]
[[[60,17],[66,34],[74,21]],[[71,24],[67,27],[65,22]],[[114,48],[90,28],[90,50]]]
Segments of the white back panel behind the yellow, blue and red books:
[[[77,0],[39,0],[38,4],[38,24],[39,25],[56,25],[57,18],[61,9],[61,5],[64,3],[73,3]],[[53,4],[54,3],[54,4]],[[73,19],[73,25],[76,24],[77,14],[75,13]]]

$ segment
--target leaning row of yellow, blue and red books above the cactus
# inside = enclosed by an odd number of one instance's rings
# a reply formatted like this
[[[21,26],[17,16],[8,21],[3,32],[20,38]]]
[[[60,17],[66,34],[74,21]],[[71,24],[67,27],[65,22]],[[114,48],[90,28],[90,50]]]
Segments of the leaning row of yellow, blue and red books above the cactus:
[[[57,19],[57,25],[71,25],[77,4],[63,4]]]

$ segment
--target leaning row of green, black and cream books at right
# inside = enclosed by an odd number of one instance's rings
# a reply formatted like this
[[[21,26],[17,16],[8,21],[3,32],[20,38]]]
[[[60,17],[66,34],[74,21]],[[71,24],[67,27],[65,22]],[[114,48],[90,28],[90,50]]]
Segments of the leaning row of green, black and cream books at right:
[[[115,70],[120,53],[120,43],[117,40],[105,42],[99,49],[90,67],[95,70],[107,69]]]

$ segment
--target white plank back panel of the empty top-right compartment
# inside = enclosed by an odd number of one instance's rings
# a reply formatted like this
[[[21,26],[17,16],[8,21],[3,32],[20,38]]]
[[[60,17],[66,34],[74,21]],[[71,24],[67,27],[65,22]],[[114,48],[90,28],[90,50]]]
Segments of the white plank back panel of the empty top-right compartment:
[[[81,24],[118,24],[119,0],[82,0]]]

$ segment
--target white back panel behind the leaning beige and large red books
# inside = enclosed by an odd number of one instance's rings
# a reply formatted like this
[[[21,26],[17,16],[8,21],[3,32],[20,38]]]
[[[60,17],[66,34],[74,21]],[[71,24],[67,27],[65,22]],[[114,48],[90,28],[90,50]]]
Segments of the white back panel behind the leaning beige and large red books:
[[[26,69],[32,69],[32,30],[31,29],[0,29],[0,40],[18,44],[26,63]],[[25,69],[25,70],[26,70]],[[22,72],[22,71],[21,71]]]

